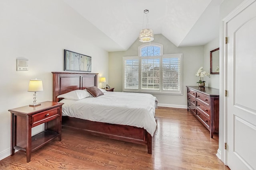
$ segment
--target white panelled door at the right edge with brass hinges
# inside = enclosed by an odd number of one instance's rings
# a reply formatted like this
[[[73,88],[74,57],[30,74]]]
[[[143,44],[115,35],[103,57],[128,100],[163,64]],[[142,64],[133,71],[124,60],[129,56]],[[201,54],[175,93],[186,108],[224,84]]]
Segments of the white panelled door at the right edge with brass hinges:
[[[256,1],[245,4],[226,23],[226,156],[231,170],[256,170]]]

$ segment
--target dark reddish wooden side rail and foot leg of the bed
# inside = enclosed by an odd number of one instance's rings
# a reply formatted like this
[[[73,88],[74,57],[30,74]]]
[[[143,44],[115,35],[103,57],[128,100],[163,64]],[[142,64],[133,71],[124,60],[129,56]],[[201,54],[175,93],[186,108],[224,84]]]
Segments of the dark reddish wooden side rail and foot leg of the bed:
[[[109,139],[146,144],[148,153],[152,154],[152,136],[143,128],[88,121],[68,116],[62,116],[62,128],[79,130],[90,135]]]

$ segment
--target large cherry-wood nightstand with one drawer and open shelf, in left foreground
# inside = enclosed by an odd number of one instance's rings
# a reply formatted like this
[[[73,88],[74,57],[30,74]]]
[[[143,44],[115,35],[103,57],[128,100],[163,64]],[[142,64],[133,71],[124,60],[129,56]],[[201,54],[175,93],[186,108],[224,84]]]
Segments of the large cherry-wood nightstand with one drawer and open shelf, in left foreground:
[[[62,105],[59,102],[42,102],[40,106],[18,107],[11,112],[11,155],[20,150],[30,162],[31,153],[54,138],[61,141]],[[32,127],[44,123],[44,131],[31,137]]]

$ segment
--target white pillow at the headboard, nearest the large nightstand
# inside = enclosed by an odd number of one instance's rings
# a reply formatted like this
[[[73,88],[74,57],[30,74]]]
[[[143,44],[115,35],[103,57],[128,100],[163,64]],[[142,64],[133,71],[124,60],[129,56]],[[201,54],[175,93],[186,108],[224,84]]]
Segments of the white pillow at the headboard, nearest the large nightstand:
[[[65,98],[69,100],[81,100],[90,97],[91,94],[86,90],[73,90],[71,92],[61,94],[57,98]]]

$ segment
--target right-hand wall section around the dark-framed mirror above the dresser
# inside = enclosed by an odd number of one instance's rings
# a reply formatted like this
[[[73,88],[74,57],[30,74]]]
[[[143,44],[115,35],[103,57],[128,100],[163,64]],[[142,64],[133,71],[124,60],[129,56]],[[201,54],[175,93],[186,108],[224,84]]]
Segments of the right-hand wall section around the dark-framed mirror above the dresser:
[[[204,45],[204,70],[206,70],[206,72],[210,73],[210,51],[219,47],[220,45],[219,45],[218,37],[210,41],[206,45]],[[219,78],[220,78],[219,74],[210,74],[210,78],[208,78],[208,80],[205,82],[205,85],[207,87],[219,89],[220,88]]]

